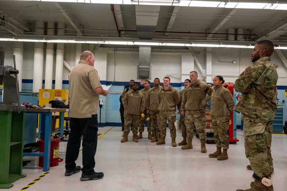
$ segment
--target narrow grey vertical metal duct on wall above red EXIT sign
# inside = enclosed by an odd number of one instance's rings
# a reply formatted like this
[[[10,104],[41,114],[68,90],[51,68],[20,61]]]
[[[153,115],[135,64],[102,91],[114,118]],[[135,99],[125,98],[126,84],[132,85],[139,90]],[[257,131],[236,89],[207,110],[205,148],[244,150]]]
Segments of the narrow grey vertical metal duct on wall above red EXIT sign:
[[[137,77],[149,80],[151,78],[151,46],[140,46],[139,54]]]

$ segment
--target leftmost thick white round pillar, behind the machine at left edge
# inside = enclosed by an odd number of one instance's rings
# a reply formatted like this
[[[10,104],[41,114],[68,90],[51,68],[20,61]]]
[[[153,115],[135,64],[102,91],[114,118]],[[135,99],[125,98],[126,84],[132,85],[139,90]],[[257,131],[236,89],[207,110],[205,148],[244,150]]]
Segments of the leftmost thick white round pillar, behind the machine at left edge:
[[[23,53],[24,42],[14,42],[13,55],[15,55],[16,69],[19,70],[18,81],[19,91],[22,91],[22,74],[23,74]]]

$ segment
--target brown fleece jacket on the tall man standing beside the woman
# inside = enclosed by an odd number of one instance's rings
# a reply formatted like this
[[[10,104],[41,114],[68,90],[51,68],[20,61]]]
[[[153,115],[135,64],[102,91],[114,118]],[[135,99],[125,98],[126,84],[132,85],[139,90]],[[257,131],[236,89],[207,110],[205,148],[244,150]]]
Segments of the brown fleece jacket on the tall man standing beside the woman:
[[[184,88],[182,95],[181,110],[201,110],[205,109],[201,106],[203,100],[211,100],[213,89],[206,83],[197,80],[195,83],[190,83]],[[208,94],[208,97],[206,97]]]

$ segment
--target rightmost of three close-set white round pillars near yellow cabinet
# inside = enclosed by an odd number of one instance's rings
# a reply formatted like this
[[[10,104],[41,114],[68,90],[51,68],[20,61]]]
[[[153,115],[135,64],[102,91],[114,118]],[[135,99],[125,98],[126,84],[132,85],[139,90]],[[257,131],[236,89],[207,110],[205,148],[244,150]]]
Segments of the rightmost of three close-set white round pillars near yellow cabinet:
[[[58,22],[58,35],[65,34],[65,24]],[[64,43],[57,43],[57,57],[56,57],[56,75],[55,75],[55,89],[62,89],[63,87],[63,62],[64,62]]]

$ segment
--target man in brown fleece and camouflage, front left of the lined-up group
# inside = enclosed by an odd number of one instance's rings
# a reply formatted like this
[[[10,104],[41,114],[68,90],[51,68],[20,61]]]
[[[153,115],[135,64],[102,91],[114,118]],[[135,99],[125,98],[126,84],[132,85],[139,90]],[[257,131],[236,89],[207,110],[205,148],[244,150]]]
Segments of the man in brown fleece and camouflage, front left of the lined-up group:
[[[128,91],[124,97],[123,105],[126,111],[124,138],[121,142],[128,141],[130,125],[132,124],[132,141],[138,142],[136,134],[138,133],[138,124],[140,123],[140,114],[145,110],[145,97],[138,91],[140,88],[138,82],[134,82],[132,90]]]

